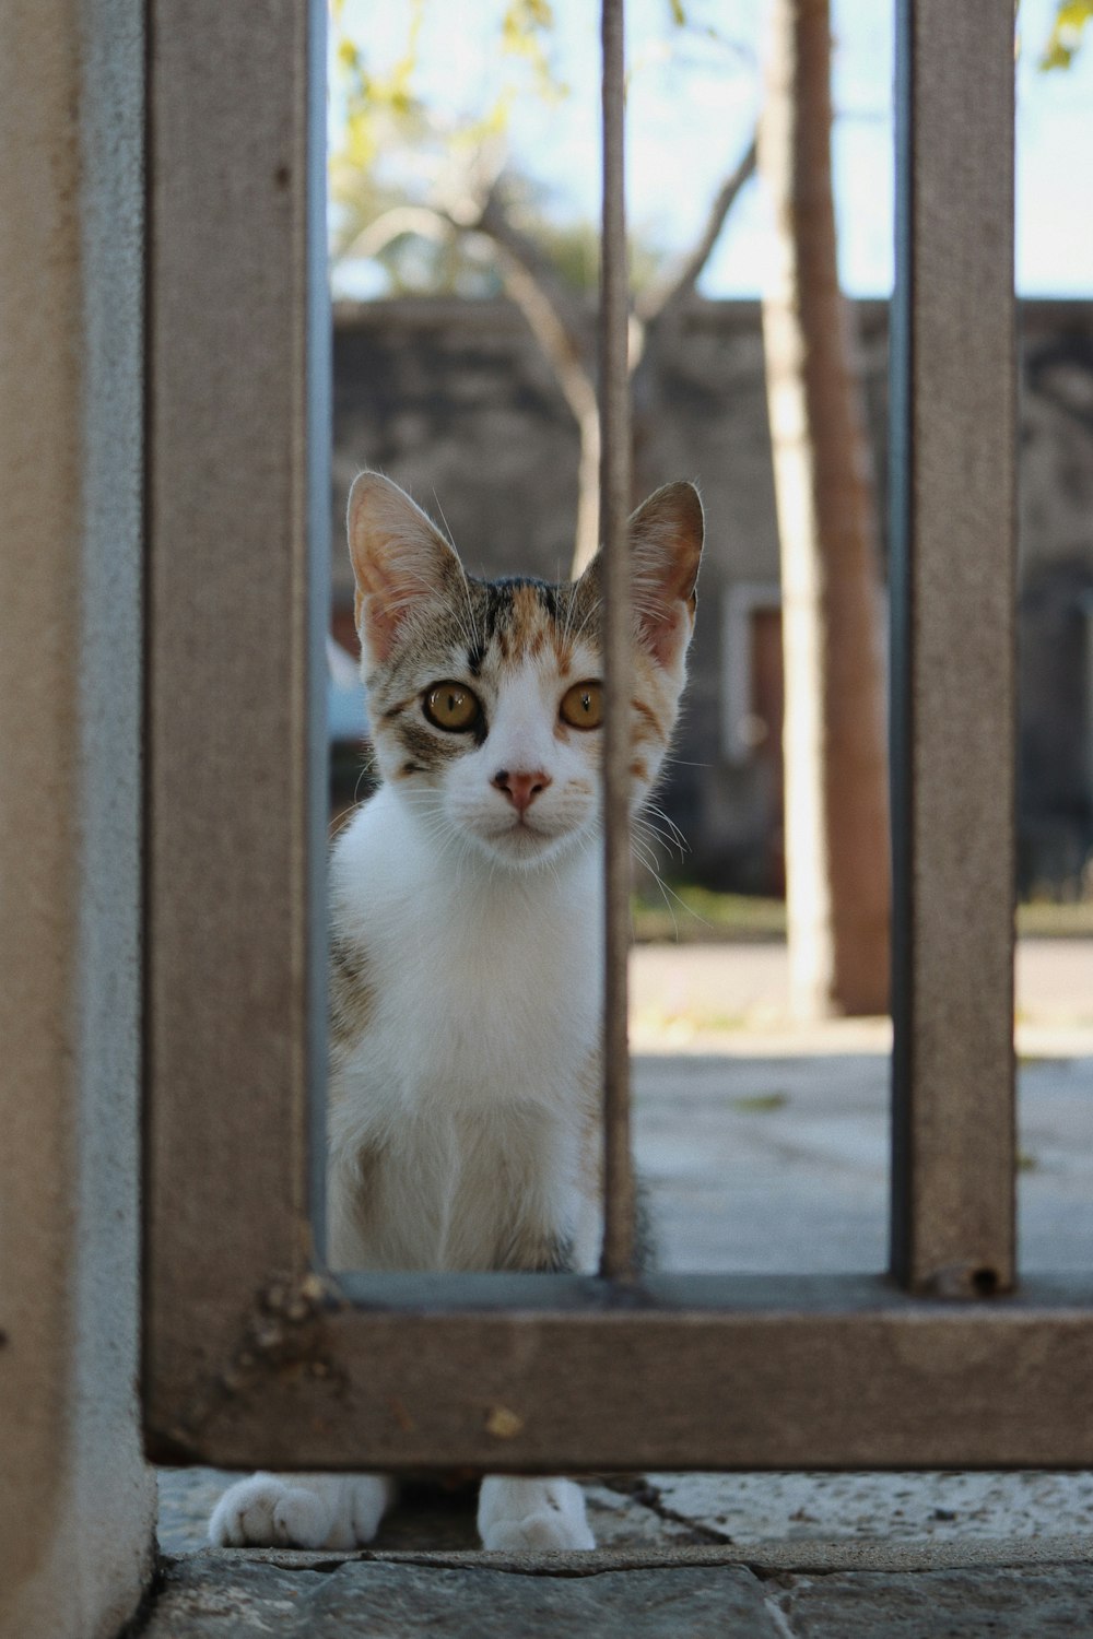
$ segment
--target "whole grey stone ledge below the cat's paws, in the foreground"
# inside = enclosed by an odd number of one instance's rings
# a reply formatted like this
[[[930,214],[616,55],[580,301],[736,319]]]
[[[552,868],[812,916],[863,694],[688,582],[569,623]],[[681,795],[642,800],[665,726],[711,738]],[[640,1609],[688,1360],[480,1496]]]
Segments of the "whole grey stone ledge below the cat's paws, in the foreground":
[[[765,1544],[665,1554],[356,1555],[213,1550],[167,1559],[143,1639],[1042,1639],[1093,1632],[1093,1564],[1045,1562],[1070,1539],[982,1544],[977,1567],[834,1569],[778,1564]],[[810,1544],[816,1555],[818,1544]],[[870,1547],[875,1547],[870,1544]],[[911,1544],[903,1546],[908,1559]],[[929,1544],[931,1559],[939,1544]],[[952,1550],[954,1544],[944,1546]],[[967,1544],[965,1544],[967,1547]],[[839,1555],[847,1544],[836,1544]],[[872,1559],[880,1559],[872,1554]],[[800,1555],[798,1555],[800,1559]]]

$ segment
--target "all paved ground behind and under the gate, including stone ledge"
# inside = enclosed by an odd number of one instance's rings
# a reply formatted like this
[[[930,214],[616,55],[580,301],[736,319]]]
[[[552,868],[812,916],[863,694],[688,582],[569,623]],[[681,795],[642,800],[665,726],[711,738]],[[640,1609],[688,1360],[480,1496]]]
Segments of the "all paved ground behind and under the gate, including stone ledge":
[[[662,1264],[882,1267],[887,1024],[788,1028],[778,946],[637,951],[633,1001]],[[1023,946],[1018,1021],[1023,1262],[1088,1270],[1093,944]],[[600,1554],[523,1562],[474,1552],[470,1500],[426,1493],[370,1555],[202,1549],[226,1480],[161,1473],[147,1639],[1093,1636],[1086,1473],[647,1475],[590,1487]]]

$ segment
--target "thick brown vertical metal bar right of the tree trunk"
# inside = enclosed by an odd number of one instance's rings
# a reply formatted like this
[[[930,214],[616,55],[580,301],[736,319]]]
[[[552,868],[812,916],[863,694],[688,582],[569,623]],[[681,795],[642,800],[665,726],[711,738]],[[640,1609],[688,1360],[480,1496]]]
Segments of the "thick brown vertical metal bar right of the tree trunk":
[[[1013,8],[896,16],[891,1267],[986,1295],[1014,1280]]]

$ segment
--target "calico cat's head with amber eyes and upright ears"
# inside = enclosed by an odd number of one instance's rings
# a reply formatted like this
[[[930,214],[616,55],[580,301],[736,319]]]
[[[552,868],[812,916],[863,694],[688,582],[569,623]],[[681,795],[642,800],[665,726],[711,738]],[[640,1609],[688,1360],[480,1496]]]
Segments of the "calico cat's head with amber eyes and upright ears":
[[[690,484],[629,520],[633,800],[669,746],[695,623],[703,516]],[[349,552],[375,759],[438,839],[544,864],[600,820],[601,570],[575,582],[475,580],[397,484],[362,472]]]

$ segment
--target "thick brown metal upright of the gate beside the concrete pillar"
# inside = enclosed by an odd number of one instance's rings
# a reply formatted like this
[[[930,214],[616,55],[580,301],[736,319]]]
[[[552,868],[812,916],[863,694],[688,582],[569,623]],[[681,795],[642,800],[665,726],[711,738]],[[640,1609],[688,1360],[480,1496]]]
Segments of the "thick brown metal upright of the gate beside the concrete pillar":
[[[226,1357],[241,1308],[305,1270],[311,1251],[329,329],[315,195],[321,0],[270,0],[261,28],[220,0],[154,0],[149,23],[144,1131],[156,1419]]]

